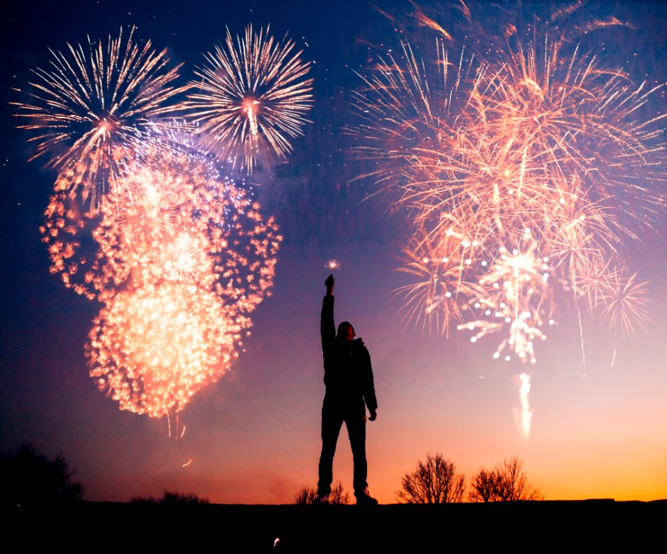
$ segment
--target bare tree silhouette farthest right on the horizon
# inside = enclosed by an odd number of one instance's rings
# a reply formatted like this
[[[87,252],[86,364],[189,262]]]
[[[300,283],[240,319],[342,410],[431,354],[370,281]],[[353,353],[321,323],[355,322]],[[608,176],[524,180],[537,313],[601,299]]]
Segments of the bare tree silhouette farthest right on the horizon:
[[[518,458],[505,459],[495,469],[479,470],[470,480],[470,502],[513,502],[518,500],[544,500],[539,489],[529,485],[528,477],[521,471]]]

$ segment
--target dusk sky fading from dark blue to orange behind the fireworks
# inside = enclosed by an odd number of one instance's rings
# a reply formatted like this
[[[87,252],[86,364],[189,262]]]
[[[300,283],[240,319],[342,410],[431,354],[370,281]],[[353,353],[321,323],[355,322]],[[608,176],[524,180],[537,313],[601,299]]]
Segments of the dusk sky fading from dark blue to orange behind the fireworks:
[[[548,12],[525,2],[524,17]],[[664,217],[630,254],[650,280],[653,321],[647,333],[612,339],[595,321],[584,330],[559,314],[538,362],[494,360],[497,337],[470,344],[406,325],[393,292],[406,284],[395,271],[409,240],[410,214],[376,194],[352,155],[345,128],[354,125],[354,72],[369,74],[379,54],[413,30],[407,1],[59,2],[13,3],[3,11],[0,214],[0,449],[30,441],[62,451],[90,501],[129,501],[163,489],[195,492],[214,503],[290,503],[317,482],[324,396],[319,317],[324,265],[336,258],[336,322],[352,322],[370,351],[378,418],[367,426],[370,492],[395,502],[404,473],[427,453],[443,453],[467,478],[481,467],[518,457],[545,498],[667,498],[667,255]],[[424,3],[425,9],[429,3]],[[533,10],[534,8],[534,10]],[[489,8],[493,10],[493,8]],[[591,2],[588,14],[632,24],[587,37],[602,63],[623,67],[636,83],[667,80],[667,10],[660,2]],[[434,10],[432,13],[438,13]],[[181,83],[201,54],[246,24],[288,33],[312,61],[312,123],[272,174],[254,173],[262,212],[283,235],[273,294],[253,314],[252,335],[219,382],[201,390],[179,417],[186,435],[167,436],[166,419],[121,411],[88,376],[84,344],[101,305],[65,289],[49,274],[38,230],[56,174],[45,160],[28,163],[28,135],[16,129],[17,100],[30,69],[47,65],[49,47],[116,35],[137,26],[183,63]],[[439,21],[447,27],[446,21]],[[423,34],[423,33],[422,33]],[[421,38],[418,37],[419,39]],[[592,41],[592,42],[591,42]],[[664,113],[664,92],[648,109]],[[663,120],[664,121],[664,120]],[[664,126],[664,122],[662,124]],[[611,358],[616,349],[616,359]],[[520,381],[532,376],[532,433],[518,426]],[[192,463],[183,468],[188,460]],[[334,480],[352,489],[352,454],[341,432]]]

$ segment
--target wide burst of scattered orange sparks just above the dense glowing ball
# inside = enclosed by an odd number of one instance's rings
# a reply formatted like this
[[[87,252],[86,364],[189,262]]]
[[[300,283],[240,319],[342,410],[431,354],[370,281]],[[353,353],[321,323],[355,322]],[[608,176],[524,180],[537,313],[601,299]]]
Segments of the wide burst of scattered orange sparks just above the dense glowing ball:
[[[42,226],[51,272],[101,301],[119,287],[197,281],[236,306],[238,318],[252,312],[272,286],[281,241],[274,220],[188,156],[131,167],[94,219],[67,193],[53,196]]]

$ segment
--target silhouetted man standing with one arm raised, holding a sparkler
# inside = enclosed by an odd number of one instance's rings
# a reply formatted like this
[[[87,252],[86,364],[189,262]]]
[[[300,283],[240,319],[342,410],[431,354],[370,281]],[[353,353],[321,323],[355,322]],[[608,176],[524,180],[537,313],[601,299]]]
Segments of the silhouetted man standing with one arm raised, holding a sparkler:
[[[334,276],[330,275],[327,295],[322,301],[322,354],[324,355],[324,403],[322,403],[322,454],[320,480],[315,503],[328,503],[332,466],[340,427],[347,426],[349,445],[354,458],[354,496],[357,504],[375,505],[377,500],[368,493],[366,482],[366,406],[370,421],[377,417],[377,400],[373,384],[370,355],[361,339],[354,339],[354,327],[347,321],[334,325]]]

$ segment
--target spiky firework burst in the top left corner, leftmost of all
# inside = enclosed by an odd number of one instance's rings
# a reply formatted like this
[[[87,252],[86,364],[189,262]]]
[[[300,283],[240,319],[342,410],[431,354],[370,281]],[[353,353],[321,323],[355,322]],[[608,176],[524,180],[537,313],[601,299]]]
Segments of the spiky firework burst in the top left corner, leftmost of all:
[[[87,47],[67,44],[65,53],[51,50],[49,69],[34,69],[28,99],[13,102],[19,125],[33,133],[32,159],[49,154],[49,167],[65,172],[72,190],[81,190],[97,208],[108,185],[124,175],[122,160],[141,150],[141,133],[173,108],[167,101],[184,89],[174,86],[179,67],[169,69],[167,50],[151,41],[103,42],[88,38]],[[22,92],[19,90],[19,92]]]

